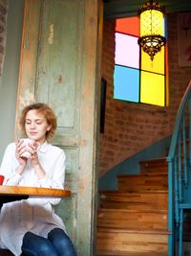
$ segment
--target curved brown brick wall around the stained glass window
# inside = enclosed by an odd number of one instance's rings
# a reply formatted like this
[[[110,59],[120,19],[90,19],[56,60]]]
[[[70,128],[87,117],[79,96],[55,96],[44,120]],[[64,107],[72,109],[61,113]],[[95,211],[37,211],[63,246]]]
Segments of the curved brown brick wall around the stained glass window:
[[[178,64],[177,13],[168,21],[169,106],[138,105],[113,99],[115,21],[103,26],[102,77],[107,80],[104,133],[100,134],[100,175],[121,161],[172,133],[182,95],[191,80],[191,67]]]

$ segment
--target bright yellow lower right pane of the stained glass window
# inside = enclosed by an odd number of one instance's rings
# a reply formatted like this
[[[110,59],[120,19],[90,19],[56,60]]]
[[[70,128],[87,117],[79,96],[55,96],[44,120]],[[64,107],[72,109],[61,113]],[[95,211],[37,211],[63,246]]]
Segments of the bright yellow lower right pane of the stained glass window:
[[[165,77],[148,72],[140,72],[140,102],[151,105],[164,106]]]

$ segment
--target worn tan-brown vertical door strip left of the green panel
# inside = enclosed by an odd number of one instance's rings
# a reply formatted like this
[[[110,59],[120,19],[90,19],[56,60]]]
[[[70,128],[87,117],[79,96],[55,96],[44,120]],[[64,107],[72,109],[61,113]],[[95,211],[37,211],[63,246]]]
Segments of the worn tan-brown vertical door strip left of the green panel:
[[[35,71],[40,26],[40,2],[40,0],[25,0],[16,122],[18,121],[21,109],[25,105],[34,102]],[[15,130],[18,132],[17,123]]]

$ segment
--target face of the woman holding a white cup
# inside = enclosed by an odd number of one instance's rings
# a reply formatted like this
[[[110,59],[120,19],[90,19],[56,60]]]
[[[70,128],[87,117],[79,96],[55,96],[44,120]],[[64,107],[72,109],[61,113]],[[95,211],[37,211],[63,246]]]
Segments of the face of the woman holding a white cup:
[[[48,125],[47,119],[35,109],[30,110],[26,115],[25,130],[29,138],[43,143],[46,138],[46,132],[51,129]]]

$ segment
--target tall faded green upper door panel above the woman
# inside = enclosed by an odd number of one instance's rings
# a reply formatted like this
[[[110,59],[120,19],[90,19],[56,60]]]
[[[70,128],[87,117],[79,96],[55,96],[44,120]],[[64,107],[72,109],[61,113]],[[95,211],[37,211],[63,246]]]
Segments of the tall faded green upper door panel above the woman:
[[[57,0],[55,4],[47,0],[41,11],[36,100],[55,109],[58,126],[67,132],[76,132],[74,123],[78,123],[76,78],[82,7],[80,1]]]

